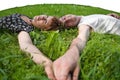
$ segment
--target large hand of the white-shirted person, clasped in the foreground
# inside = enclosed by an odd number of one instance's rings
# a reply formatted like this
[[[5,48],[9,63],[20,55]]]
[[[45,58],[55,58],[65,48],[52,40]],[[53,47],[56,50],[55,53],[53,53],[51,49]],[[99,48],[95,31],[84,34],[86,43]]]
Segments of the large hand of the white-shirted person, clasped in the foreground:
[[[53,63],[53,70],[57,80],[78,80],[79,57],[65,54]]]

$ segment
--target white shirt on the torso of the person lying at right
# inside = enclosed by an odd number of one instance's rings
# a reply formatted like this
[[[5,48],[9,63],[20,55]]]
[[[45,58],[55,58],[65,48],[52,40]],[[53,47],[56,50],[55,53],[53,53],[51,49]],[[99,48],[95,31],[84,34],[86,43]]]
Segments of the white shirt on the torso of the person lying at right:
[[[107,15],[89,15],[81,18],[79,25],[86,24],[95,32],[120,35],[120,20]]]

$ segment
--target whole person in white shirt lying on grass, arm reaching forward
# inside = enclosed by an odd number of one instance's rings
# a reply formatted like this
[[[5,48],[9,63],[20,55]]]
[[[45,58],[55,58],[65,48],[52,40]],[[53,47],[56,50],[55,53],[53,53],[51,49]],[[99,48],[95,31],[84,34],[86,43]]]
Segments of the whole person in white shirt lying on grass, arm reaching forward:
[[[79,56],[89,39],[90,31],[120,35],[119,18],[117,14],[113,13],[108,15],[77,16],[68,14],[62,16],[59,20],[64,28],[69,29],[77,26],[78,36],[72,41],[66,53],[53,62],[56,79],[78,80],[80,71]]]

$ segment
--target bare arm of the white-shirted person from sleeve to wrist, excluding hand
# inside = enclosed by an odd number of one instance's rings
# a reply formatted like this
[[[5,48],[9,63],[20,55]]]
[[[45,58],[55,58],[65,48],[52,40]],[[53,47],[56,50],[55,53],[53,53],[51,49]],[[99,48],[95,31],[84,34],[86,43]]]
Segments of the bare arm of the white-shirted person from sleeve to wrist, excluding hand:
[[[78,36],[72,41],[70,48],[66,52],[67,54],[71,55],[79,55],[80,52],[84,49],[86,42],[90,35],[90,27],[86,25],[82,25],[79,28]]]

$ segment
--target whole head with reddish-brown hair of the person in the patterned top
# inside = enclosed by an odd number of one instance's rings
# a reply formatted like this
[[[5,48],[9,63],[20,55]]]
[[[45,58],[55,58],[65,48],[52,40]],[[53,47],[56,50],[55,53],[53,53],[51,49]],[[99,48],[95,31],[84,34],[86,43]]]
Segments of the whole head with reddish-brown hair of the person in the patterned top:
[[[57,30],[59,20],[53,16],[38,15],[33,18],[32,24],[41,30]]]

